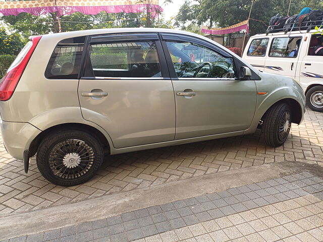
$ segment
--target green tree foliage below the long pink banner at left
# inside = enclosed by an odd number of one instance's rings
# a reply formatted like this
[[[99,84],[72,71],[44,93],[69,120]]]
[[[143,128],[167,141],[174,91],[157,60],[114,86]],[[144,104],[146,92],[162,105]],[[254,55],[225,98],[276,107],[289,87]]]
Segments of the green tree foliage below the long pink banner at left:
[[[170,1],[168,0],[168,2]],[[150,27],[171,27],[170,21],[165,21],[163,17],[157,18],[154,16],[155,14],[150,16]],[[7,26],[9,31],[18,31],[23,37],[59,32],[56,13],[48,13],[42,16],[21,13],[18,16],[3,16],[0,20]],[[101,12],[97,15],[84,15],[76,12],[71,15],[61,16],[60,20],[62,32],[100,28],[138,28],[147,27],[148,24],[146,12],[117,14]]]

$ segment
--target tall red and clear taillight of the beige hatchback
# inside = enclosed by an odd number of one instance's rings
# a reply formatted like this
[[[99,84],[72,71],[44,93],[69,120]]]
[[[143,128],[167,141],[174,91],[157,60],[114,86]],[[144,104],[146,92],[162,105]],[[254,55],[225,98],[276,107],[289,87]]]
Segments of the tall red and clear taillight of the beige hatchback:
[[[8,69],[7,74],[0,83],[0,101],[7,101],[11,98],[40,38],[41,36],[31,37]]]

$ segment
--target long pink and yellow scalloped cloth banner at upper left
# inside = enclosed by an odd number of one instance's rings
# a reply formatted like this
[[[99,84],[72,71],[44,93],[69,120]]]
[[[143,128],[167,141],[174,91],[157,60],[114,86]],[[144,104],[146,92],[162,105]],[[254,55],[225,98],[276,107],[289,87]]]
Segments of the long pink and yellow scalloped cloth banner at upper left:
[[[57,12],[58,16],[70,15],[75,12],[96,15],[106,13],[140,13],[163,11],[158,0],[36,0],[19,2],[0,2],[0,13],[15,15],[29,13],[43,15]]]

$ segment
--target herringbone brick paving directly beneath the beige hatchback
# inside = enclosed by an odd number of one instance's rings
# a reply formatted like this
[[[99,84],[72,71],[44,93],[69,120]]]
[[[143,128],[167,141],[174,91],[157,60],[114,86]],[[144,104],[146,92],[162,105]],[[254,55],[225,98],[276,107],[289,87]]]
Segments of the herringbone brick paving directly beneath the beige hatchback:
[[[82,201],[193,176],[264,163],[300,161],[323,165],[323,113],[307,110],[284,146],[266,147],[258,135],[165,147],[105,157],[98,174],[70,188],[48,183],[31,160],[28,174],[0,143],[0,216]]]

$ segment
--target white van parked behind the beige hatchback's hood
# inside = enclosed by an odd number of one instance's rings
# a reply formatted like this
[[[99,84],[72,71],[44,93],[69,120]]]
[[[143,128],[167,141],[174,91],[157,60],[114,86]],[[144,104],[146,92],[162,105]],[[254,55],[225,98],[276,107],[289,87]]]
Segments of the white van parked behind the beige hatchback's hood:
[[[243,58],[261,72],[295,78],[301,82],[306,104],[323,112],[323,56],[315,55],[320,34],[316,30],[300,30],[257,34],[252,36]]]

